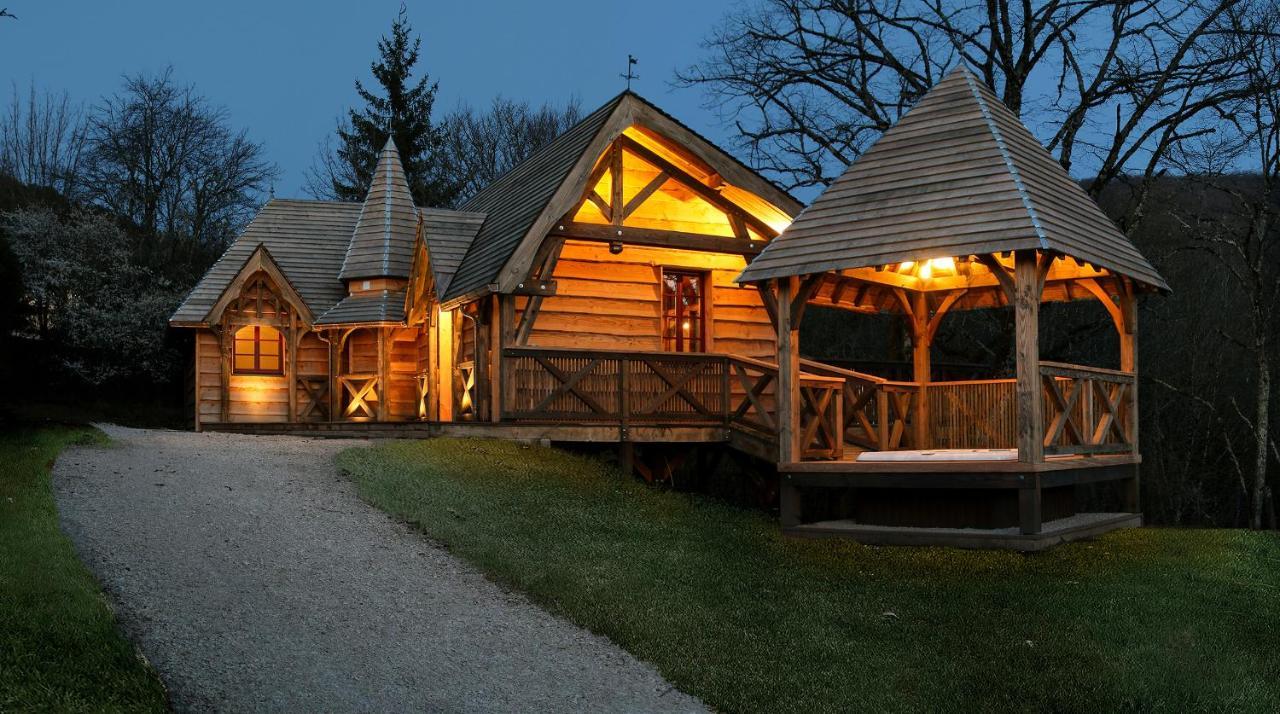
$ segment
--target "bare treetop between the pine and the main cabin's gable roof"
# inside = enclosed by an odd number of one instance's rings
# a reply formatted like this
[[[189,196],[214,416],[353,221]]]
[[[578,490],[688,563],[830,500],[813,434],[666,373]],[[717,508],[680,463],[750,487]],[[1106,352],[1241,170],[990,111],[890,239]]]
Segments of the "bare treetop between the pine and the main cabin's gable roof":
[[[444,165],[462,203],[581,119],[576,99],[564,106],[495,97],[486,111],[461,104],[444,118]]]

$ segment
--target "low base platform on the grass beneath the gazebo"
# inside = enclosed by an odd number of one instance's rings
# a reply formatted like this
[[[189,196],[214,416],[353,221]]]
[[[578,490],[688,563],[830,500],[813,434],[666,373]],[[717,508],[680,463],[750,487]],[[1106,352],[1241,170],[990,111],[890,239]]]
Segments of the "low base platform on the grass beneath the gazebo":
[[[1093,537],[1116,528],[1142,526],[1138,513],[1076,513],[1046,521],[1041,532],[1027,535],[1010,528],[924,528],[870,526],[854,521],[818,521],[786,528],[790,535],[846,537],[865,545],[942,545],[1006,550],[1043,550],[1053,545]]]

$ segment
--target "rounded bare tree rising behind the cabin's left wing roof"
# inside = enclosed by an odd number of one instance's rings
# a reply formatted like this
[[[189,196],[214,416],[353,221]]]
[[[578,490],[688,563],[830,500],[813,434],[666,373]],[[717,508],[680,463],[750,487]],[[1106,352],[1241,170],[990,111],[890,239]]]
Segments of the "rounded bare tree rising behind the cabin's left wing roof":
[[[261,205],[276,168],[173,72],[124,78],[88,119],[88,197],[137,224],[148,264],[216,256]]]

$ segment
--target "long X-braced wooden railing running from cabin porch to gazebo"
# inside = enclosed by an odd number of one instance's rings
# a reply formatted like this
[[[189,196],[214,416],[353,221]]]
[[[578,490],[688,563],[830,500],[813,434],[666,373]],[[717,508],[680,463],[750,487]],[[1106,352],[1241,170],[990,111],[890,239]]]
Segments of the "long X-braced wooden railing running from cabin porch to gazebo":
[[[776,365],[731,354],[503,349],[509,421],[717,425],[777,443]],[[840,458],[841,380],[800,375],[804,458]]]

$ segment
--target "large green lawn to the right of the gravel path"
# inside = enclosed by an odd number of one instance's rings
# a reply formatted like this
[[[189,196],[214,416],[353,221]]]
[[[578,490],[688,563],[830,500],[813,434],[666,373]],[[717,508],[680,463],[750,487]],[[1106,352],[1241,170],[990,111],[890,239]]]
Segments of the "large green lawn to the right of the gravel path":
[[[538,447],[435,439],[339,463],[366,500],[717,709],[1280,710],[1275,534],[868,548]]]

